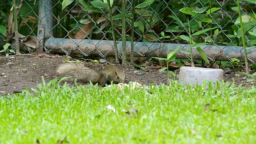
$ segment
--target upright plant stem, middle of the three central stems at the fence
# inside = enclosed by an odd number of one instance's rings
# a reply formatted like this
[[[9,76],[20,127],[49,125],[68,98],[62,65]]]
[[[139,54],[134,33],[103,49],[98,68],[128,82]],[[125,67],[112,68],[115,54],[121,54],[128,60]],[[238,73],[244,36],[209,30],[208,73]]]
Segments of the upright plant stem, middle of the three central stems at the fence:
[[[125,0],[122,0],[122,64],[126,62],[126,13],[125,13]]]

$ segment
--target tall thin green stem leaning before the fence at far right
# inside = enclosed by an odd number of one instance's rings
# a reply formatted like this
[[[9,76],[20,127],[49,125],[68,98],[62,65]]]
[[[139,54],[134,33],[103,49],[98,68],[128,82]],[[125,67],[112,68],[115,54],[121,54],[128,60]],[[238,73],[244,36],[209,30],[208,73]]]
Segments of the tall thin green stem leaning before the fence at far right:
[[[245,72],[247,74],[249,74],[248,61],[247,61],[247,52],[246,52],[246,46],[245,46],[244,26],[243,26],[242,15],[241,15],[241,8],[240,8],[239,0],[236,0],[236,2],[237,2],[237,7],[238,7],[238,14],[239,14],[239,20],[240,20],[240,26],[241,26],[241,33],[242,33],[242,41],[243,41],[243,49],[244,49]]]

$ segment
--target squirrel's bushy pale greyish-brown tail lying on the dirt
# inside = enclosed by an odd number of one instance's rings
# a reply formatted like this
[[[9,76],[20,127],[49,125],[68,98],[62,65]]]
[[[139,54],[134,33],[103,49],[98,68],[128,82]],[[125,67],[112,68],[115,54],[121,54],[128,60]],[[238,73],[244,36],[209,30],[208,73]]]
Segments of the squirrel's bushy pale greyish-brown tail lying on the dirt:
[[[58,67],[57,72],[60,74],[72,74],[76,77],[77,80],[82,82],[91,81],[93,84],[95,84],[99,80],[99,74],[94,70],[84,66],[82,62],[61,64]]]

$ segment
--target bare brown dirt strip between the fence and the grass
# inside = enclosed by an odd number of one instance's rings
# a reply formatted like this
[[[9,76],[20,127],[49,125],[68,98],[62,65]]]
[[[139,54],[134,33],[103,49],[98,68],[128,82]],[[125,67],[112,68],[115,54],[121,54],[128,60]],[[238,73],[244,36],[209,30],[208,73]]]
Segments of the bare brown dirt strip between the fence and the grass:
[[[65,75],[60,75],[56,72],[56,68],[64,63],[63,56],[47,55],[32,56],[32,55],[19,55],[9,58],[0,55],[0,95],[6,93],[20,93],[27,87],[28,89],[37,88],[37,84],[44,80],[49,82],[54,78],[62,78]],[[90,67],[96,71],[100,71],[102,66],[106,64],[88,63]],[[126,83],[136,81],[140,84],[168,84],[166,71],[160,72],[156,69],[149,71],[141,71],[133,66],[118,66],[121,70],[125,70]],[[137,71],[137,72],[134,72]],[[178,78],[178,77],[177,77]],[[177,79],[176,78],[176,79]],[[244,87],[251,86],[253,82],[246,82],[244,76],[235,76],[234,74],[224,74],[224,80],[236,86],[242,84]],[[74,78],[66,80],[70,86],[74,85]],[[83,84],[79,83],[78,84]],[[86,84],[84,84],[86,85]]]

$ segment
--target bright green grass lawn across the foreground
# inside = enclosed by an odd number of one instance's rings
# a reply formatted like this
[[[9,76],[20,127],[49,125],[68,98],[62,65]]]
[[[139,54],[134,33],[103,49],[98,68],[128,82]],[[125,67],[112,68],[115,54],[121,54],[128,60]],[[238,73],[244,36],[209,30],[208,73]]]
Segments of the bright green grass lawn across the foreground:
[[[70,144],[256,142],[254,86],[222,82],[193,87],[170,82],[148,89],[118,90],[112,85],[102,90],[92,85],[60,86],[60,81],[42,80],[38,90],[0,99],[0,143],[52,144],[66,136]],[[108,110],[108,105],[118,113]],[[132,108],[138,110],[137,119],[135,112],[127,117],[122,111],[132,113]]]

